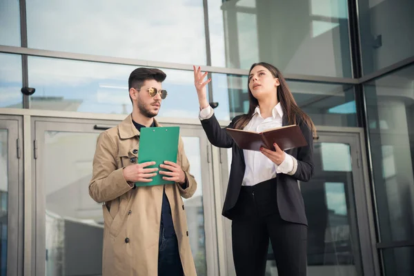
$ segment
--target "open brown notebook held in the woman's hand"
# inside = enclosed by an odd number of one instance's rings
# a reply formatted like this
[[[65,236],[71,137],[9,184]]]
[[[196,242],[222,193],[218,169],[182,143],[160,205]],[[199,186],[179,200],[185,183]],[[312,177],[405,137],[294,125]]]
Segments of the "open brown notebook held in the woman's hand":
[[[233,137],[237,146],[244,150],[260,151],[261,146],[275,150],[274,143],[282,150],[308,145],[302,131],[297,125],[270,128],[263,132],[237,130],[234,128],[226,128],[226,131]]]

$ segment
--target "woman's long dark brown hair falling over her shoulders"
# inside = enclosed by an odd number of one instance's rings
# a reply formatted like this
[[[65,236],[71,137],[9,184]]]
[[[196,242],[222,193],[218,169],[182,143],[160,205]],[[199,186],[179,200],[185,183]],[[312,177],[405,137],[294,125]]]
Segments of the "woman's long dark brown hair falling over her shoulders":
[[[313,137],[316,137],[316,128],[313,124],[313,121],[311,120],[311,117],[306,115],[305,112],[303,112],[299,106],[297,106],[297,103],[295,101],[295,98],[293,98],[292,92],[290,92],[288,88],[288,83],[286,83],[286,80],[284,79],[282,72],[280,72],[275,66],[266,63],[266,62],[259,62],[254,63],[249,70],[252,72],[253,68],[255,66],[263,66],[267,70],[269,70],[273,77],[279,79],[280,85],[277,86],[277,100],[279,101],[280,105],[282,106],[282,110],[284,114],[288,117],[288,124],[293,125],[297,124],[297,119],[300,119],[304,121],[304,123],[312,130]],[[249,108],[246,115],[243,115],[240,117],[236,123],[235,128],[237,129],[243,129],[250,119],[253,117],[253,114],[255,113],[255,108],[259,106],[259,101],[255,97],[253,97],[252,92],[250,91],[250,88],[247,84],[247,90],[248,90],[248,100],[249,100]]]

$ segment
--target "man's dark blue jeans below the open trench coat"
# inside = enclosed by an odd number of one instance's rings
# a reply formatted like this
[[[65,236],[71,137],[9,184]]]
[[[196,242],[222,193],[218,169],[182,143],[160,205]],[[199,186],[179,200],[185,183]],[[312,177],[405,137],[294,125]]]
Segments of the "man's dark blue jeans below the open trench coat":
[[[158,243],[158,276],[164,275],[182,276],[184,272],[179,257],[177,236],[166,237],[164,226],[161,224]]]

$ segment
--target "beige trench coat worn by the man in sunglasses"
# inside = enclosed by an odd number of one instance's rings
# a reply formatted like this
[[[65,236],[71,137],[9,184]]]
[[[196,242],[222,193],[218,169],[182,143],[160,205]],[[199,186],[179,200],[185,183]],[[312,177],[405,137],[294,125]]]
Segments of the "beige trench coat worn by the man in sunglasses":
[[[118,126],[102,132],[97,140],[89,194],[95,201],[103,203],[103,276],[158,274],[163,187],[132,189],[122,174],[125,166],[136,163],[138,135],[139,131],[132,124],[132,117],[129,115]],[[192,276],[196,275],[196,271],[181,197],[192,197],[197,182],[190,175],[190,165],[181,137],[177,164],[184,170],[188,186],[184,190],[179,184],[166,185],[166,195],[170,201],[184,275]]]

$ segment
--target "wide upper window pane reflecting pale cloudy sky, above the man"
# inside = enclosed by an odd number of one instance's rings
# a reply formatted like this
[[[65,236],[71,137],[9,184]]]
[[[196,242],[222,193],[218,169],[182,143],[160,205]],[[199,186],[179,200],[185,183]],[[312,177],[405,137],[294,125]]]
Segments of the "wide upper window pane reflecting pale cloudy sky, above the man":
[[[206,64],[202,0],[32,0],[26,5],[29,48]]]

